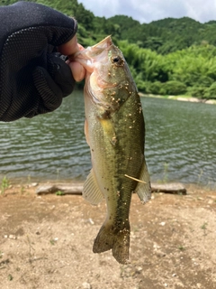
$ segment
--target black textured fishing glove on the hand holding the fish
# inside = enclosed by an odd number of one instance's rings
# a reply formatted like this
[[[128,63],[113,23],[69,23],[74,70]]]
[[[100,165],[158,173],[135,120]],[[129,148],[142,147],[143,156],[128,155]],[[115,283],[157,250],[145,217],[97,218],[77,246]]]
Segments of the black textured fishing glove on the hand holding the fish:
[[[0,120],[58,108],[75,80],[57,46],[73,38],[76,21],[29,2],[1,6],[0,19]]]

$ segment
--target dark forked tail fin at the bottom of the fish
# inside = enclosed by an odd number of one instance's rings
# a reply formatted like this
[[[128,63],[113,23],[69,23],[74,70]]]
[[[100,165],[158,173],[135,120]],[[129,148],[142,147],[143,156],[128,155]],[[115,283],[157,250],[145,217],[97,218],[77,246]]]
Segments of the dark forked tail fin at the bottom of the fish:
[[[129,259],[130,224],[124,228],[113,228],[105,222],[94,240],[93,252],[102,253],[112,249],[112,256],[121,264]]]

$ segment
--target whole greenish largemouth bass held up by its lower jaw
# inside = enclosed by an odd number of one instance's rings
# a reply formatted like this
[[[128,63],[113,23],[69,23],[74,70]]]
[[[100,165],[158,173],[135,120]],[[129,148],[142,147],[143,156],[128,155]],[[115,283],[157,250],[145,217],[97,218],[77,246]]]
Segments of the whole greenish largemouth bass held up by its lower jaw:
[[[75,60],[86,69],[85,137],[92,170],[83,196],[92,204],[105,198],[107,215],[94,240],[94,253],[112,249],[125,264],[130,249],[130,200],[150,199],[144,157],[145,125],[136,85],[121,51],[110,36],[77,52]]]

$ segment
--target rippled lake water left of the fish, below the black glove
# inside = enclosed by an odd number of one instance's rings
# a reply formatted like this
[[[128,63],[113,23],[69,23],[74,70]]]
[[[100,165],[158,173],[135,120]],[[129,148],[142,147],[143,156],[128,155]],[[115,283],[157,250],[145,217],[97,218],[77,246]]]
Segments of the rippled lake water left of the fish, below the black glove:
[[[75,92],[50,114],[0,123],[0,177],[85,179],[91,164],[84,120],[83,96]]]

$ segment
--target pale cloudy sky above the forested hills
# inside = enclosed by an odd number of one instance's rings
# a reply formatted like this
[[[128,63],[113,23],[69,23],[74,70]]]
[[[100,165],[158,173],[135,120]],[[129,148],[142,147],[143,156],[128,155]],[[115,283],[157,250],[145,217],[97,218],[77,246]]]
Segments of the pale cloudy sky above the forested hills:
[[[78,0],[95,16],[131,16],[139,23],[188,16],[201,23],[216,20],[216,0]]]

